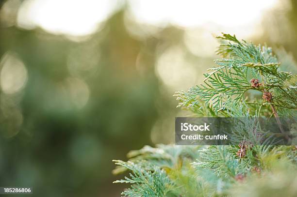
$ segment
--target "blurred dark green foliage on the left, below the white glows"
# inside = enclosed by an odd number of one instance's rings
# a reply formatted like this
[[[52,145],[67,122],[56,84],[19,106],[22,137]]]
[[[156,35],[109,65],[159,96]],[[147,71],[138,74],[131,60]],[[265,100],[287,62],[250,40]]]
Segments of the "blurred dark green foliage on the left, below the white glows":
[[[110,162],[151,143],[155,102],[164,102],[156,40],[132,38],[122,19],[116,13],[79,43],[40,29],[0,29],[0,57],[17,58],[28,73],[21,90],[0,91],[1,186],[32,186],[44,197],[117,194]]]

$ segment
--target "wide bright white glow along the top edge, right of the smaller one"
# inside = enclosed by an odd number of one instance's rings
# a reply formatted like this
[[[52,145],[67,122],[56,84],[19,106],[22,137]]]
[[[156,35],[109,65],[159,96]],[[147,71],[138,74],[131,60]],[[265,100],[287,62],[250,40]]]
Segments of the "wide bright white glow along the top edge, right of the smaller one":
[[[277,0],[129,0],[129,11],[140,23],[152,25],[164,26],[170,23],[181,27],[195,27],[214,23],[232,27],[255,22],[265,9],[273,7],[276,2]]]

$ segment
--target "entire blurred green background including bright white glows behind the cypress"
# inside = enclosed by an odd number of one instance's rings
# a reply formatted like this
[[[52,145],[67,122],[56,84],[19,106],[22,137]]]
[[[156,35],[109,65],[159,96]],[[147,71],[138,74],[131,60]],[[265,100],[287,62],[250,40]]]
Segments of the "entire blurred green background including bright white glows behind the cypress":
[[[120,196],[112,159],[174,142],[187,114],[172,94],[214,66],[220,32],[267,43],[289,65],[297,2],[0,1],[0,186]]]

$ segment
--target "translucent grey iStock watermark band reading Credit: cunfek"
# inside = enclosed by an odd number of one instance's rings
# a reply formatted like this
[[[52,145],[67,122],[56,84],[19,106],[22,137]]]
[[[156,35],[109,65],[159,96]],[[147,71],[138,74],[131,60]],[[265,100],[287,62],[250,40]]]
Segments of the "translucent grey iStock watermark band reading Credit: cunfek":
[[[296,145],[295,118],[185,118],[175,120],[176,145]],[[282,128],[282,129],[280,129]]]

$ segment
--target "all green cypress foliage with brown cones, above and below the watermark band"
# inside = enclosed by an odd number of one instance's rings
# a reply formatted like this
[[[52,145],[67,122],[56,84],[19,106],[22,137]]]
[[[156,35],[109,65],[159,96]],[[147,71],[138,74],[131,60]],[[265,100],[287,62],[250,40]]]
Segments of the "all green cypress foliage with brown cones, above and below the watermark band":
[[[208,69],[202,84],[175,93],[178,107],[196,117],[297,117],[297,75],[280,70],[270,47],[230,34],[217,38],[221,44],[216,52],[222,59],[214,61],[217,66]],[[250,90],[262,97],[251,99]],[[249,121],[240,125],[238,139],[254,135],[247,132],[252,127]],[[296,128],[292,125],[290,140],[296,140]],[[131,171],[130,178],[115,181],[131,184],[122,196],[297,196],[296,146],[245,141],[234,146],[157,145],[128,157],[128,162],[114,160],[115,174]]]

